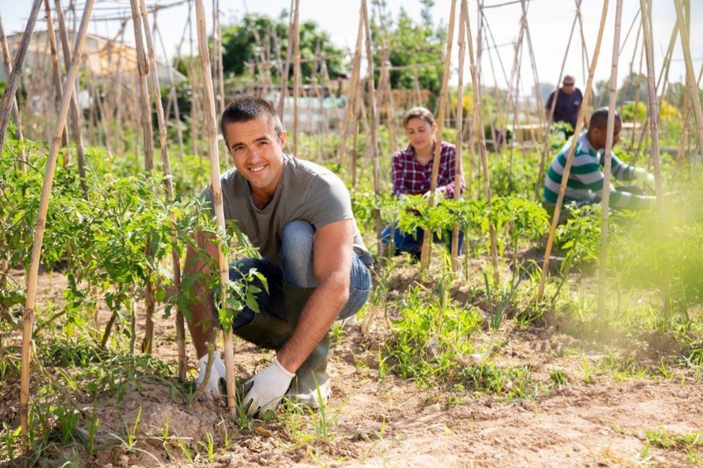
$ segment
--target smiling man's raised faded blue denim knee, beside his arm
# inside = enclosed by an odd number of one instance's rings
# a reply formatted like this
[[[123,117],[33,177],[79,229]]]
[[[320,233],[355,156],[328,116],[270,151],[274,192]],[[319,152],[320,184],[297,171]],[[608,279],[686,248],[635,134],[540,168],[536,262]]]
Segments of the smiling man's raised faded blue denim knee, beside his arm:
[[[313,267],[315,228],[307,221],[290,221],[283,228],[280,241],[280,268],[283,280],[297,287],[316,287]]]

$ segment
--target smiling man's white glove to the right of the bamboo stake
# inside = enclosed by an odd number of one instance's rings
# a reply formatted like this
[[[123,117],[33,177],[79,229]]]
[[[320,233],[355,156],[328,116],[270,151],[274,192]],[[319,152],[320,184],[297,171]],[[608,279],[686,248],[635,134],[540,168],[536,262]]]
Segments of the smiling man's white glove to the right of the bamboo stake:
[[[290,381],[295,374],[285,370],[280,365],[278,358],[273,358],[273,363],[268,368],[254,375],[247,382],[249,391],[244,396],[244,408],[247,415],[253,416],[257,412],[264,415],[268,410],[275,410],[290,387]]]

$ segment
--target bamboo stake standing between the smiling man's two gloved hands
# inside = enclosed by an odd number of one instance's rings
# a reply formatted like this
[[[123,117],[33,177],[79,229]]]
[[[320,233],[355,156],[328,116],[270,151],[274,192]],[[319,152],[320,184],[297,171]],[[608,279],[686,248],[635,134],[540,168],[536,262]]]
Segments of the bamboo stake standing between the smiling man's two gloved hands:
[[[198,18],[198,54],[200,56],[200,71],[204,80],[205,90],[205,117],[207,119],[207,140],[209,143],[210,179],[212,183],[212,197],[215,217],[217,218],[217,234],[224,239],[224,209],[222,206],[222,189],[220,186],[219,157],[217,155],[217,119],[215,119],[215,100],[212,91],[212,77],[210,76],[210,58],[207,55],[207,35],[205,32],[205,10],[202,0],[195,0],[195,16]],[[227,258],[222,249],[217,249],[217,264],[219,266],[221,301],[227,298],[227,283],[229,281],[229,268]],[[231,414],[236,412],[236,389],[234,386],[234,343],[232,330],[224,330],[224,364],[227,370],[227,407]],[[212,365],[212,364],[209,364]]]

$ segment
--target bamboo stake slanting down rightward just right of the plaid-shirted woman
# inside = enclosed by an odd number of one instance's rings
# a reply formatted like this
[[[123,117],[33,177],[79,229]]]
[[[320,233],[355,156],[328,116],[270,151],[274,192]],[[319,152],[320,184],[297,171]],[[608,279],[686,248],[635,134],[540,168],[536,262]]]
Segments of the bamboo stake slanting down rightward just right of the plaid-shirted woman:
[[[488,154],[486,150],[486,134],[483,131],[483,114],[481,109],[481,93],[479,89],[481,86],[479,84],[479,77],[476,70],[476,65],[474,61],[474,46],[471,39],[471,20],[469,18],[468,6],[466,0],[461,0],[461,9],[464,11],[464,18],[466,19],[466,42],[469,46],[469,65],[471,70],[471,82],[474,89],[474,109],[475,109],[475,119],[477,123],[478,137],[479,137],[479,152],[481,155],[481,163],[484,178],[484,193],[486,195],[486,203],[489,207],[491,206],[491,181],[489,179],[488,172]],[[491,261],[493,263],[493,279],[498,285],[501,280],[500,272],[498,271],[498,239],[496,236],[496,226],[494,226],[493,221],[489,221],[489,235],[491,237]]]

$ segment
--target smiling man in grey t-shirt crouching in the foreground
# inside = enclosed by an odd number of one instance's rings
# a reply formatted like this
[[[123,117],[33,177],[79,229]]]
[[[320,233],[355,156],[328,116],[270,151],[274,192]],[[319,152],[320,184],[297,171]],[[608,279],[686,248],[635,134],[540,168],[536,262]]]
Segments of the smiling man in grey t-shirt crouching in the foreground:
[[[276,350],[273,363],[247,382],[245,409],[263,415],[283,396],[318,408],[330,396],[330,327],[366,303],[373,257],[363,245],[344,183],[328,169],[283,154],[286,134],[269,103],[251,96],[233,100],[223,112],[221,131],[235,165],[221,176],[224,217],[236,221],[262,255],[234,262],[229,275],[237,280],[256,268],[268,285],[268,292],[257,285],[259,312],[240,311],[233,332]],[[212,188],[202,196],[212,202]],[[202,235],[198,245],[217,256],[217,247]],[[189,247],[184,273],[205,268]],[[209,292],[196,284],[195,294]],[[203,382],[212,311],[193,304],[191,313],[198,386],[205,385],[205,398],[217,398],[225,377],[219,354]]]

